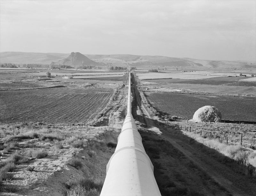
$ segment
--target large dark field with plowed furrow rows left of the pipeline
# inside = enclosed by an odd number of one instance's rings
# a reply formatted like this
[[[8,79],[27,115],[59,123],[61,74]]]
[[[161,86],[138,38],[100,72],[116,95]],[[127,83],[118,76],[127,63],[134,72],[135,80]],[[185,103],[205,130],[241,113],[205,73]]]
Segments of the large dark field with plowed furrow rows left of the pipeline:
[[[6,122],[78,123],[102,111],[113,89],[47,88],[0,91],[0,119]]]

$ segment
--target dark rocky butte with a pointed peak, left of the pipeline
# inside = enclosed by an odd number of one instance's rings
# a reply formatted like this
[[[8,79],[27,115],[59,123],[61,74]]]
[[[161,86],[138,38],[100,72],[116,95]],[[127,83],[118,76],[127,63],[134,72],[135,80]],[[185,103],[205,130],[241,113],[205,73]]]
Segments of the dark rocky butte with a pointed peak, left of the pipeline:
[[[100,66],[99,62],[92,61],[88,57],[86,57],[84,54],[81,54],[79,52],[71,52],[71,54],[64,58],[55,64],[61,64],[61,65],[93,65],[93,66]]]

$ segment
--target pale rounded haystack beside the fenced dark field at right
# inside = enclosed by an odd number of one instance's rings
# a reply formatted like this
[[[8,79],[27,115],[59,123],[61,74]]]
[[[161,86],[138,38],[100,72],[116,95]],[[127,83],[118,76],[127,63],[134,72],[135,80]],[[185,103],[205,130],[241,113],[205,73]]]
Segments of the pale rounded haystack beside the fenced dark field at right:
[[[221,113],[216,107],[205,105],[196,110],[193,120],[196,122],[220,122]]]

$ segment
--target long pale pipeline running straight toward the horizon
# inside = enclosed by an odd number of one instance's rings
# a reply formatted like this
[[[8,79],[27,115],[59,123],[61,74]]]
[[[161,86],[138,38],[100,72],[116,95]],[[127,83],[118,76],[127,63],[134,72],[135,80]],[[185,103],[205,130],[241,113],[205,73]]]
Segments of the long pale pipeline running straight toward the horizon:
[[[130,72],[127,114],[100,196],[161,196],[153,171],[132,117]]]

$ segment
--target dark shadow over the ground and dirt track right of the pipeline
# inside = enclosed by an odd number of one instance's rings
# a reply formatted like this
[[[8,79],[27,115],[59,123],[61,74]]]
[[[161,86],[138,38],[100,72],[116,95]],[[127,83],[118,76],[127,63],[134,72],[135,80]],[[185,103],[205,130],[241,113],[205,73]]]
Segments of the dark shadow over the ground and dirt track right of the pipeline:
[[[163,196],[255,195],[256,178],[250,175],[253,173],[250,168],[196,142],[171,126],[146,117],[148,115],[141,107],[138,91],[135,89],[133,93],[133,109],[136,110],[134,105],[137,105],[144,111],[144,118],[133,111],[138,124],[141,127],[143,124],[154,126],[163,133],[156,136],[141,132],[143,145],[154,165],[155,177]]]

